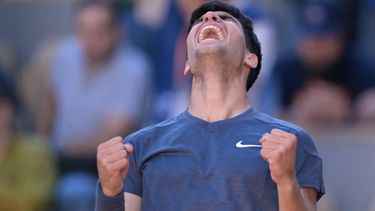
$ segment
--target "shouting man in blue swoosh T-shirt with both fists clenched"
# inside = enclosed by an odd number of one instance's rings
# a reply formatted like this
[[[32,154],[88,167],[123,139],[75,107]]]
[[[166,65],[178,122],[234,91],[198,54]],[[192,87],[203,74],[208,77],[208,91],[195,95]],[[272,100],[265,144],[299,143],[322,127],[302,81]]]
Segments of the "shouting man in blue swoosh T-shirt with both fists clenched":
[[[324,187],[312,140],[247,104],[261,63],[251,20],[210,1],[190,23],[191,104],[98,147],[97,210],[315,210]]]

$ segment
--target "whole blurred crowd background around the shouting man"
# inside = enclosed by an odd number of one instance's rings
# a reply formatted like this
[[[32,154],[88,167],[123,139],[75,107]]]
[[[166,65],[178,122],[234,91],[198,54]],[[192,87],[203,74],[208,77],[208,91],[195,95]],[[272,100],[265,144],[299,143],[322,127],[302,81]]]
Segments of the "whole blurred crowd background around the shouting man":
[[[93,210],[96,146],[187,108],[204,0],[0,1],[0,210]],[[231,0],[263,67],[249,101],[313,136],[319,210],[375,210],[375,1]]]

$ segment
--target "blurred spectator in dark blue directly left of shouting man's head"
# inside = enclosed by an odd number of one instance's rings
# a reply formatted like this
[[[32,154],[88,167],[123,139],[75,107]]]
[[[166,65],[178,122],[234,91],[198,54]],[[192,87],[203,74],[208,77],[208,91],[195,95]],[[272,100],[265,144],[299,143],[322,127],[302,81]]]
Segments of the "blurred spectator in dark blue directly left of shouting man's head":
[[[204,1],[138,0],[123,17],[127,37],[148,53],[155,67],[153,121],[186,109],[189,78],[183,76],[183,71],[187,22]]]

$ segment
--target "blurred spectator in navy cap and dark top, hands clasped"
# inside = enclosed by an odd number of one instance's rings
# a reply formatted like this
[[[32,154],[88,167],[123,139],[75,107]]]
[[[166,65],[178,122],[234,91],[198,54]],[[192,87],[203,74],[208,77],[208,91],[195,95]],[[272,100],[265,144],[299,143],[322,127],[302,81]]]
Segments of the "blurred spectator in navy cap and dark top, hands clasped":
[[[280,93],[281,110],[299,124],[343,122],[356,112],[354,104],[375,113],[375,72],[348,51],[340,12],[319,1],[304,4],[296,52],[284,53],[267,87]]]

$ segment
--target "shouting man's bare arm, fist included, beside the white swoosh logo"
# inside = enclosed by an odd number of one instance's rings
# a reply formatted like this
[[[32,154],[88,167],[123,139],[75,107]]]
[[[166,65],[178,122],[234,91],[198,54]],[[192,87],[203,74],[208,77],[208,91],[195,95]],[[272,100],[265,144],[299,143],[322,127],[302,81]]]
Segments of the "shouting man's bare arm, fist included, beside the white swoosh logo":
[[[317,191],[300,188],[295,173],[297,137],[279,129],[260,140],[261,156],[269,163],[272,180],[277,185],[280,211],[316,210]]]

